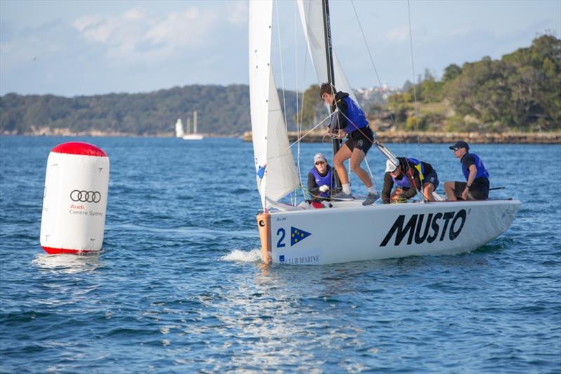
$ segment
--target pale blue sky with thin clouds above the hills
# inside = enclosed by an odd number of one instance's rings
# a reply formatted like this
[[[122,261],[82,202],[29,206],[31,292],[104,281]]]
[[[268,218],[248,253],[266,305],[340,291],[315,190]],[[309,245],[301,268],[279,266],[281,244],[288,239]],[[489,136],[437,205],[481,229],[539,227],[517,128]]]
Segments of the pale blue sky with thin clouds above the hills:
[[[277,84],[304,90],[317,82],[295,4],[274,8]],[[440,77],[452,63],[499,59],[542,34],[561,37],[561,0],[331,0],[330,14],[353,88],[401,87],[425,69]],[[0,95],[191,84],[248,84],[248,1],[0,0]]]

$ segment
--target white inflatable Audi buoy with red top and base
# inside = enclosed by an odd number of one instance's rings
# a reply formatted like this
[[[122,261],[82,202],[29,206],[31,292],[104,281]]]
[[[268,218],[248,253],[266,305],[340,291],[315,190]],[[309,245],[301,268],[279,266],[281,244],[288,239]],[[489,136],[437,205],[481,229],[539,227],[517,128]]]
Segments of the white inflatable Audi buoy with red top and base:
[[[41,247],[49,253],[90,253],[103,243],[109,157],[84,142],[50,150],[47,160]]]

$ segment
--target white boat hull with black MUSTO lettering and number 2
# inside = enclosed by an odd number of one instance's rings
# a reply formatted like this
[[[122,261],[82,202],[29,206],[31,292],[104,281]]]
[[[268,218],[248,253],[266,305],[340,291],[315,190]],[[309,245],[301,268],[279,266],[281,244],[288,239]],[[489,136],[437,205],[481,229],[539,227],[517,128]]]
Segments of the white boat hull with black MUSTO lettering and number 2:
[[[519,206],[518,200],[367,207],[353,201],[334,203],[334,208],[270,212],[268,227],[261,227],[259,216],[257,220],[262,246],[269,247],[265,261],[325,265],[473,251],[505,232]]]

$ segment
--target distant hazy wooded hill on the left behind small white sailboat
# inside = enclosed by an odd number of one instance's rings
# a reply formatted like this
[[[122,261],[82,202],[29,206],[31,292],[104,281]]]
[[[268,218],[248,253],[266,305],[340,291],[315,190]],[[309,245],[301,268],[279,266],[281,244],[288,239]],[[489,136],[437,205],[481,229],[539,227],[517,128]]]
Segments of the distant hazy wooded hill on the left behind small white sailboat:
[[[282,102],[283,95],[279,92]],[[295,128],[295,93],[285,91],[288,127]],[[175,131],[175,121],[198,112],[200,133],[235,135],[250,130],[249,88],[184,86],[153,93],[63,98],[54,95],[17,95],[0,98],[0,133],[38,133],[65,129],[72,133],[162,135]]]

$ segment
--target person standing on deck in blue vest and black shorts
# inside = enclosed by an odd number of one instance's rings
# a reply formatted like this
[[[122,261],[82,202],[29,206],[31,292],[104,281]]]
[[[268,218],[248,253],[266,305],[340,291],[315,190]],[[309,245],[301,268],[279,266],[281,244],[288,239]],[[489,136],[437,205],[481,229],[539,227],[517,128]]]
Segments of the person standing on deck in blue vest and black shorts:
[[[374,133],[368,125],[366,115],[363,109],[360,109],[358,104],[354,102],[349,93],[337,92],[332,84],[324,83],[320,87],[320,97],[327,105],[330,105],[332,117],[331,123],[327,127],[329,135],[335,135],[338,139],[343,139],[346,135],[346,142],[337,151],[333,158],[333,163],[337,175],[341,180],[343,187],[342,192],[332,196],[337,200],[352,200],[353,194],[351,193],[351,183],[349,182],[349,174],[346,172],[344,161],[349,161],[349,167],[358,178],[364,183],[368,189],[368,195],[363,201],[363,205],[371,205],[379,199],[380,195],[374,189],[372,180],[366,171],[360,167],[363,162],[368,149],[374,142]]]

